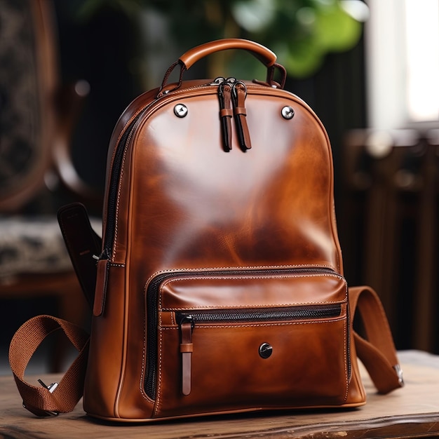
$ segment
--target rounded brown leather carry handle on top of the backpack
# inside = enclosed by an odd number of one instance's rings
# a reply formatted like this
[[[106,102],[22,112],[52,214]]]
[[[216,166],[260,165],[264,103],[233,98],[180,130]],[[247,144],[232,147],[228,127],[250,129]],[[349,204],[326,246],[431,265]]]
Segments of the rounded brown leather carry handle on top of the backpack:
[[[287,78],[287,72],[285,70],[285,67],[276,63],[276,54],[273,53],[269,48],[262,46],[262,44],[255,43],[254,41],[246,39],[227,38],[217,41],[211,41],[210,43],[204,43],[200,46],[196,46],[194,48],[191,48],[190,50],[187,50],[186,53],[180,56],[180,58],[169,67],[163,78],[163,82],[161,83],[161,87],[159,89],[157,97],[161,97],[162,95],[169,93],[170,91],[180,88],[183,81],[183,73],[186,72],[186,70],[189,70],[189,68],[193,66],[197,61],[205,58],[208,55],[212,55],[212,53],[229,49],[247,50],[266,66],[266,82],[269,83],[269,85],[279,88],[283,88],[283,86],[285,86],[285,80]],[[168,85],[169,76],[173,72],[175,67],[177,67],[177,65],[180,65],[180,78],[177,86],[173,86],[173,88],[171,89],[166,88],[166,86]],[[273,76],[276,69],[281,72],[281,79],[279,83],[273,81]]]

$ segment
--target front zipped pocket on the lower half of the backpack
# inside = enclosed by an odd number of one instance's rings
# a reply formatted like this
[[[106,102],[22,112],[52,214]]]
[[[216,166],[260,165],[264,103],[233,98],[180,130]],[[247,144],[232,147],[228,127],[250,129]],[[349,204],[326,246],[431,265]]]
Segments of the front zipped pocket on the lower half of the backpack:
[[[342,405],[347,286],[318,267],[161,273],[146,288],[155,415]]]

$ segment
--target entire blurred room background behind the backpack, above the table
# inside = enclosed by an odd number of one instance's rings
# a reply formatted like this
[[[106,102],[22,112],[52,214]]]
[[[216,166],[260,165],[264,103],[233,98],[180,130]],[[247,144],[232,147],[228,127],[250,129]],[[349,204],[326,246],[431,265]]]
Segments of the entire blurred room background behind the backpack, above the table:
[[[100,229],[107,147],[123,109],[189,48],[267,46],[332,142],[345,276],[381,296],[398,349],[439,353],[436,0],[0,0],[0,346],[40,313],[87,324],[56,211]],[[227,51],[185,79],[264,79]],[[58,339],[35,367],[60,370]]]

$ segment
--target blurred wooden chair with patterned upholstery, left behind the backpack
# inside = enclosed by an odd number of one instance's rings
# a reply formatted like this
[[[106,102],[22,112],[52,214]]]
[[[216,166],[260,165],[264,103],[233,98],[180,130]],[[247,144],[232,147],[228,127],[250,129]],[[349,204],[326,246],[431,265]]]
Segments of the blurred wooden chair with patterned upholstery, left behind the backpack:
[[[53,296],[60,317],[81,323],[86,302],[49,189],[98,198],[69,151],[88,83],[59,83],[51,6],[0,0],[0,299]],[[61,353],[55,346],[51,370],[62,367]]]

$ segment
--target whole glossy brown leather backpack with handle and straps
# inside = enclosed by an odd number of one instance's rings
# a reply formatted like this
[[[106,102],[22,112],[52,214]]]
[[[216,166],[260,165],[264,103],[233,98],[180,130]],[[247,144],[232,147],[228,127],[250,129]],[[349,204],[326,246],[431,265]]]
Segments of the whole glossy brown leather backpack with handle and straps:
[[[226,49],[255,55],[266,82],[182,81]],[[168,83],[175,67],[180,80]],[[189,50],[116,124],[100,250],[81,206],[60,212],[83,288],[96,285],[89,346],[62,320],[37,326],[61,325],[82,356],[88,349],[88,363],[74,367],[85,373],[83,407],[93,417],[360,406],[356,351],[379,391],[402,384],[377,295],[349,290],[343,277],[327,133],[284,83],[276,55],[252,41]],[[357,302],[369,342],[352,329]],[[20,332],[11,351],[19,346]],[[40,399],[24,396],[26,407],[72,410],[81,373],[65,380],[39,388]]]

